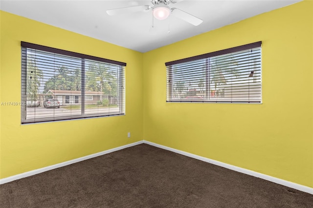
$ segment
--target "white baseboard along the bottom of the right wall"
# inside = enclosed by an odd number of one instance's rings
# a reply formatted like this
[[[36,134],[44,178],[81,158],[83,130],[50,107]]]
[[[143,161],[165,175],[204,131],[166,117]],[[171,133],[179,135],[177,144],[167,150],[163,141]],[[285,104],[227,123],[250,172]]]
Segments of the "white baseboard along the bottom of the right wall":
[[[151,145],[151,146],[156,146],[158,148],[166,149],[166,150],[169,150],[169,151],[172,151],[172,152],[175,152],[175,153],[187,156],[187,157],[191,157],[191,158],[194,158],[194,159],[197,159],[197,160],[201,160],[201,161],[207,162],[207,163],[211,163],[213,165],[222,166],[222,167],[225,167],[227,169],[231,169],[231,170],[235,170],[237,172],[245,173],[247,175],[251,175],[251,176],[254,176],[254,177],[257,177],[257,178],[262,178],[264,180],[267,180],[267,181],[270,181],[270,182],[273,182],[273,183],[276,183],[276,184],[280,184],[280,185],[283,185],[285,187],[291,187],[291,188],[294,188],[294,189],[297,189],[297,190],[300,190],[300,191],[303,191],[303,192],[307,192],[307,193],[313,194],[313,188],[311,188],[311,187],[306,187],[306,186],[303,186],[303,185],[300,185],[300,184],[296,184],[296,183],[293,183],[293,182],[290,182],[290,181],[285,181],[283,179],[275,178],[275,177],[272,177],[272,176],[269,176],[269,175],[266,175],[266,174],[263,174],[263,173],[258,173],[258,172],[252,171],[252,170],[248,170],[248,169],[245,169],[245,168],[242,168],[242,167],[232,166],[232,165],[229,165],[229,164],[226,164],[226,163],[222,163],[222,162],[219,162],[219,161],[216,161],[216,160],[212,160],[212,159],[209,159],[209,158],[201,157],[199,155],[195,155],[195,154],[191,154],[191,153],[188,153],[188,152],[184,152],[184,151],[181,151],[181,150],[178,150],[178,149],[174,149],[174,148],[171,148],[171,147],[168,147],[168,146],[158,145],[158,144],[153,143],[153,142],[149,142],[149,141],[145,141],[144,140],[143,143]]]

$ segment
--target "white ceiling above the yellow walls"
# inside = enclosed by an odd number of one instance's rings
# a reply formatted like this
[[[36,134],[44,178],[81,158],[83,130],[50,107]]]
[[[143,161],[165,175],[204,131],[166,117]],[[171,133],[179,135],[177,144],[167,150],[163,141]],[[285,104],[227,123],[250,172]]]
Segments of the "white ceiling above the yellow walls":
[[[301,0],[178,0],[169,4],[203,22],[194,26],[170,16],[155,20],[142,11],[109,16],[108,9],[152,5],[150,0],[1,0],[0,9],[139,52],[281,8]],[[170,31],[168,33],[168,31]]]

